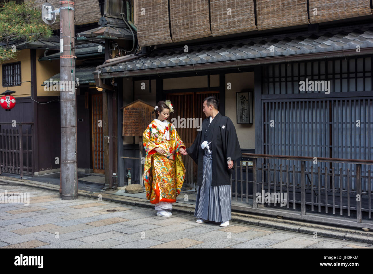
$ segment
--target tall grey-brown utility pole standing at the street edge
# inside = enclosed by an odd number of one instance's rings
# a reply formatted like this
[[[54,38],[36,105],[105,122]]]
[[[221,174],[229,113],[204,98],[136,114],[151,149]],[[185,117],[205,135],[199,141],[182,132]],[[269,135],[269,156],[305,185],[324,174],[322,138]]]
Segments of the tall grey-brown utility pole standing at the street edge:
[[[75,1],[60,1],[61,198],[78,199]]]

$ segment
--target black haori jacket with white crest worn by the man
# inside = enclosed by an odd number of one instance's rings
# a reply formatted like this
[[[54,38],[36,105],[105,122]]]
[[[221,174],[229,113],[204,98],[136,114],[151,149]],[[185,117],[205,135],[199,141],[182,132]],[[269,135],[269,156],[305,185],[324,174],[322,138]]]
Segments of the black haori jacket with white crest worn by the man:
[[[213,126],[213,138],[211,142],[213,148],[211,186],[230,185],[230,178],[231,174],[233,173],[233,168],[228,169],[228,157],[230,157],[232,161],[241,158],[241,148],[239,147],[236,129],[231,119],[229,119],[227,116],[223,116],[220,114],[220,112],[216,114],[213,122],[215,119],[215,123],[210,125]],[[186,149],[188,155],[192,157],[198,166],[198,186],[202,185],[203,179],[203,149],[201,148],[201,143],[203,142],[203,136],[209,120],[210,117],[203,120],[202,130],[198,132],[198,135],[191,147]]]

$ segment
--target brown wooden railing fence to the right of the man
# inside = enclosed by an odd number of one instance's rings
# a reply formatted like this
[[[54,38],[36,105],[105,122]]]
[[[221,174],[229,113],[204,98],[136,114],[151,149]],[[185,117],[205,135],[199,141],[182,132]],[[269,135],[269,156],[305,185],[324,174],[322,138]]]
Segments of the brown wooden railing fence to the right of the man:
[[[358,223],[362,222],[363,212],[372,218],[373,160],[251,153],[243,153],[242,157],[253,161],[252,167],[251,161],[241,161],[239,166],[235,161],[231,189],[236,201],[240,197],[241,202],[246,198],[249,203],[251,198],[253,208],[258,208],[258,204],[290,208],[292,204],[296,209],[298,204],[301,215],[307,210],[322,212],[322,208],[325,213],[332,209],[333,214],[338,214],[339,208],[339,215],[350,216],[355,211]],[[283,161],[294,164],[282,164]],[[335,167],[336,163],[352,164],[353,169]]]

